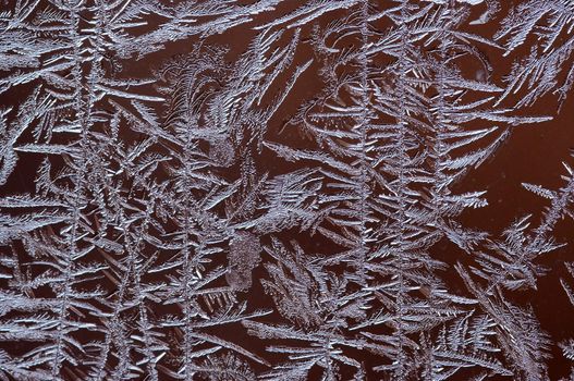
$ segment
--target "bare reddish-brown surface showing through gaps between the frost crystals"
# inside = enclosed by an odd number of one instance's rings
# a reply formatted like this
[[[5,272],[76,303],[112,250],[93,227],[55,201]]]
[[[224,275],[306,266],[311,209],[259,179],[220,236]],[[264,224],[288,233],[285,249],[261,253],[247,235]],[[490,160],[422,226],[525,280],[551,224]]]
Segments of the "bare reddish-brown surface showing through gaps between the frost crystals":
[[[384,7],[384,1],[379,1],[379,4]],[[278,19],[296,8],[297,1],[284,1],[280,4],[277,10],[268,13],[258,15],[253,22],[246,23],[239,28],[234,28],[230,32],[221,35],[208,37],[203,44],[205,46],[224,45],[229,47],[229,52],[225,54],[225,60],[233,62],[237,57],[244,52],[253,39],[255,32],[251,28],[253,25],[260,25],[267,21]],[[501,17],[505,14],[508,9],[512,7],[510,3],[501,4],[501,10],[498,16],[486,25],[473,26],[472,30],[486,36],[491,37]],[[332,20],[337,20],[342,16],[342,12],[330,12],[320,17],[319,24],[326,25]],[[150,16],[150,21],[154,17]],[[308,38],[313,34],[313,25],[306,25],[302,29],[302,40],[308,42]],[[292,30],[285,30],[283,40],[289,44],[292,36]],[[198,39],[185,39],[182,41],[175,41],[168,44],[164,49],[159,52],[147,56],[143,60],[124,60],[121,61],[121,76],[123,77],[147,77],[154,73],[155,70],[160,67],[166,60],[175,57],[178,54],[187,54],[198,44]],[[528,46],[528,45],[526,45]],[[484,53],[488,57],[488,60],[493,66],[493,78],[494,82],[501,81],[502,76],[510,70],[510,64],[513,60],[523,54],[525,49],[518,49],[513,52],[510,57],[502,57],[500,51],[494,49],[485,48]],[[296,50],[295,61],[303,63],[309,58],[314,57],[313,49],[308,44],[302,44]],[[569,61],[569,64],[572,62]],[[382,64],[382,62],[378,63]],[[297,128],[293,125],[286,125],[285,122],[297,111],[297,108],[306,100],[317,96],[322,89],[322,82],[317,74],[317,65],[314,63],[312,67],[305,72],[305,74],[295,84],[291,91],[288,100],[281,106],[280,111],[273,116],[269,125],[267,126],[266,138],[271,142],[280,142],[291,147],[307,147],[312,143],[305,139]],[[473,63],[468,63],[468,71],[476,71],[473,67]],[[107,69],[108,71],[108,69]],[[288,73],[289,74],[289,73]],[[479,73],[477,74],[479,75]],[[285,82],[288,78],[280,78],[278,82]],[[3,106],[17,106],[22,99],[29,93],[32,85],[20,86],[5,93],[1,99]],[[146,89],[150,95],[157,94],[157,86],[149,86]],[[279,90],[279,89],[278,89]],[[520,94],[516,98],[520,98]],[[508,100],[509,106],[515,99]],[[267,99],[266,101],[269,101]],[[158,113],[164,114],[166,107],[157,106],[156,110]],[[574,97],[569,97],[564,102],[560,112],[558,112],[558,101],[554,96],[546,96],[535,107],[521,110],[520,113],[528,115],[554,115],[555,118],[550,122],[538,123],[535,125],[521,125],[513,127],[512,136],[502,145],[496,152],[496,155],[485,162],[481,167],[476,170],[471,170],[467,175],[456,185],[455,190],[488,190],[486,197],[489,201],[489,206],[480,209],[467,210],[460,217],[460,222],[468,228],[476,228],[486,232],[491,233],[493,236],[499,234],[509,224],[517,218],[525,214],[533,214],[532,222],[536,224],[548,206],[548,200],[545,200],[536,195],[525,190],[521,183],[533,183],[540,184],[551,189],[559,188],[562,185],[560,175],[564,173],[561,165],[562,161],[570,164],[574,164],[569,153],[574,148],[574,133],[572,132],[572,121],[574,121]],[[127,128],[122,127],[122,138],[125,140],[135,142],[139,137],[136,133],[129,132]],[[30,136],[22,136],[20,143],[30,139]],[[17,170],[11,175],[8,184],[2,188],[1,195],[11,195],[14,193],[23,193],[34,189],[34,174],[37,170],[37,165],[40,160],[35,155],[28,155],[17,164]],[[277,157],[267,149],[262,149],[256,159],[256,165],[260,173],[269,172],[270,175],[286,173],[293,169],[297,169],[300,164],[290,163],[284,160],[277,159]],[[59,163],[62,164],[61,162]],[[58,160],[54,160],[54,169],[58,165]],[[236,177],[237,165],[233,165],[229,169],[229,173],[221,172],[223,176],[230,176],[230,179]],[[169,176],[168,173],[163,175]],[[509,293],[509,298],[518,305],[532,305],[537,318],[540,321],[542,330],[548,332],[551,336],[554,345],[551,348],[552,358],[548,361],[549,365],[549,377],[551,380],[558,380],[561,377],[566,377],[570,372],[571,364],[566,360],[560,348],[555,345],[562,340],[574,337],[574,306],[570,305],[566,295],[564,294],[559,278],[565,276],[566,272],[563,266],[564,261],[573,261],[574,253],[572,245],[574,245],[574,223],[572,220],[565,220],[560,222],[554,236],[559,242],[569,243],[569,246],[560,248],[553,253],[546,254],[541,259],[540,263],[548,267],[548,273],[541,278],[538,283],[538,290],[536,292],[516,292]],[[296,238],[300,244],[307,248],[309,251],[330,253],[334,250],[334,246],[328,243],[327,239],[309,236],[307,234],[300,233],[296,229],[292,229],[281,233],[281,237],[284,241]],[[268,244],[264,239],[264,244]],[[19,253],[23,258],[26,258],[26,254],[23,253],[23,248],[17,248]],[[431,255],[433,258],[444,261],[449,267],[441,274],[451,292],[467,295],[464,284],[461,281],[453,266],[456,262],[471,263],[472,258],[468,255],[462,253],[453,244],[442,239],[431,248]],[[265,257],[262,258],[265,261]],[[162,275],[163,276],[163,275]],[[164,278],[154,279],[149,276],[148,281],[161,281]],[[258,266],[253,273],[253,286],[248,292],[240,293],[240,298],[247,300],[253,308],[272,308],[272,300],[269,295],[266,295],[259,279],[266,278],[266,272],[262,266]],[[110,282],[102,281],[103,288],[108,292],[113,292],[113,284]],[[50,291],[46,290],[46,295],[36,294],[37,297],[50,296]],[[157,306],[157,308],[161,308]],[[167,310],[159,310],[159,315],[168,312]],[[276,311],[265,318],[266,321],[283,321],[279,314]],[[240,343],[243,347],[253,351],[254,353],[264,354],[265,345],[261,341],[254,339],[246,334],[246,331],[241,325],[229,327],[225,329],[218,329],[219,335],[224,336],[227,340],[235,343]],[[181,337],[178,337],[179,332],[175,330],[166,330],[168,337],[178,343]],[[97,337],[82,337],[85,341],[97,339]],[[0,347],[5,347],[10,352],[14,353],[22,348],[29,349],[26,344],[4,342],[0,344]],[[176,357],[178,348],[173,349],[170,356]],[[274,361],[272,354],[264,356],[269,361]],[[367,365],[373,362],[377,364],[376,358],[363,359]],[[80,366],[82,368],[82,366]],[[368,368],[368,367],[367,367]],[[260,367],[260,370],[264,368]],[[318,370],[317,370],[318,371]],[[72,370],[69,374],[78,374],[81,370]],[[64,373],[65,374],[65,373]],[[317,379],[315,373],[312,372],[310,380]],[[76,380],[77,376],[69,376],[71,380]],[[318,377],[318,373],[317,373]],[[346,380],[343,374],[342,379]],[[461,376],[462,377],[462,376]],[[170,378],[164,377],[161,380],[169,380]],[[508,378],[506,378],[508,379]],[[368,374],[367,380],[378,380],[375,373]]]

